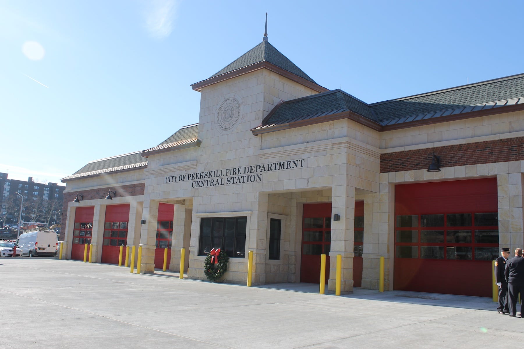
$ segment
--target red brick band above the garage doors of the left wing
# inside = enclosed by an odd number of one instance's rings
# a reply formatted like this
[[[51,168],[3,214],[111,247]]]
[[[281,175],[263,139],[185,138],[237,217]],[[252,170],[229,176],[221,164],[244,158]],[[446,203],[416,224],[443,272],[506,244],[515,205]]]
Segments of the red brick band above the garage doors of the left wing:
[[[125,196],[136,196],[144,195],[145,183],[139,184],[130,184],[122,186],[112,186],[110,188],[98,188],[98,189],[89,189],[89,190],[78,190],[73,193],[64,193],[64,204],[62,208],[62,222],[60,226],[60,241],[63,241],[65,238],[65,222],[67,222],[67,209],[70,202],[73,202],[77,194],[82,194],[84,198],[79,197],[81,201],[83,200],[93,200],[93,199],[104,199],[107,196],[108,190],[116,192],[116,197],[125,197]],[[115,195],[111,194],[112,197]]]

